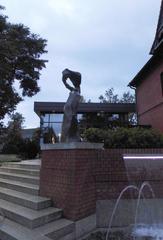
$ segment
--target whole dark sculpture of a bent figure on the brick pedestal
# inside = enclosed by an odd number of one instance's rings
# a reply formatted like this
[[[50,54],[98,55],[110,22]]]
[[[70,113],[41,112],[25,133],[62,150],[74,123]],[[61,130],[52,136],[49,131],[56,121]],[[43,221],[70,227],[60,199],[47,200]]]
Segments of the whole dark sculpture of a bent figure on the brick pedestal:
[[[67,83],[68,79],[72,82],[73,86],[70,86]],[[66,68],[62,72],[62,81],[65,87],[70,90],[70,94],[64,106],[61,142],[80,142],[77,109],[81,99],[81,74],[79,72],[74,72]]]

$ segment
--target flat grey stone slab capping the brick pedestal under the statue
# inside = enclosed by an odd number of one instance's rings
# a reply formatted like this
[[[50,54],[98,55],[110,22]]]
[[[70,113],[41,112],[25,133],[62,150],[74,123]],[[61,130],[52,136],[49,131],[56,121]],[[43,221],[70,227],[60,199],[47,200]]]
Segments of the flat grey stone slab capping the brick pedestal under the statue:
[[[103,149],[103,143],[90,142],[72,142],[72,143],[55,143],[42,144],[41,150],[56,150],[56,149]]]

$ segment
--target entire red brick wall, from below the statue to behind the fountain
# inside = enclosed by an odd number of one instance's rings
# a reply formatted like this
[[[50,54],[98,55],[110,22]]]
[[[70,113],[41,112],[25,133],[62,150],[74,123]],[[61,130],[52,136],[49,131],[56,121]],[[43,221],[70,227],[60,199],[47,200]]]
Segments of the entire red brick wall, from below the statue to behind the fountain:
[[[163,154],[163,149],[44,150],[40,194],[51,197],[69,219],[89,216],[95,212],[97,200],[117,199],[129,184],[123,160],[127,153]],[[150,179],[136,165],[132,173],[137,185],[148,180],[157,197],[163,197],[163,169],[153,171]],[[123,197],[131,195],[126,193]]]

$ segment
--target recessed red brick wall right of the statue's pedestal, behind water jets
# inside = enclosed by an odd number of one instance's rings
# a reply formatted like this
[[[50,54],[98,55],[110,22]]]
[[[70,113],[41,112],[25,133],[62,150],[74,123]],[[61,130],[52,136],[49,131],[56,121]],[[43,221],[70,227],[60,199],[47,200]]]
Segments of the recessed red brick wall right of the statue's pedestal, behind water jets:
[[[117,199],[124,187],[131,184],[123,160],[123,154],[163,154],[163,149],[106,149],[101,152],[101,157],[96,162],[96,199]],[[137,169],[135,164],[132,174],[132,183],[140,185],[144,181],[150,181],[157,197],[163,197],[163,169],[157,167],[157,171],[151,172],[150,178]],[[158,176],[157,181],[156,176]],[[162,176],[162,178],[161,178]],[[161,181],[160,181],[161,180]],[[135,195],[136,194],[136,195]],[[123,198],[136,197],[137,193],[126,192]],[[150,195],[151,196],[151,195]]]

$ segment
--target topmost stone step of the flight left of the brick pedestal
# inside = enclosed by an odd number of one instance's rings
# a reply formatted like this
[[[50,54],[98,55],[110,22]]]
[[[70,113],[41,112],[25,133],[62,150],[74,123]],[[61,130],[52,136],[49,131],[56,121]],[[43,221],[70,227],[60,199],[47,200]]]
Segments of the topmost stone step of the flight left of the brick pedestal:
[[[3,166],[13,167],[13,168],[23,168],[23,169],[31,169],[31,170],[40,170],[40,164],[30,163],[30,161],[22,161],[22,162],[5,162]]]

